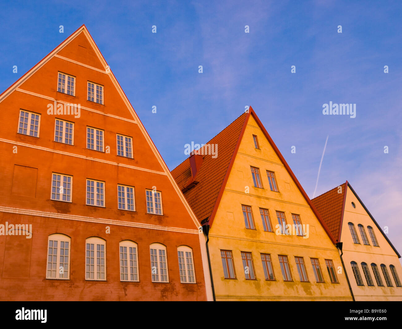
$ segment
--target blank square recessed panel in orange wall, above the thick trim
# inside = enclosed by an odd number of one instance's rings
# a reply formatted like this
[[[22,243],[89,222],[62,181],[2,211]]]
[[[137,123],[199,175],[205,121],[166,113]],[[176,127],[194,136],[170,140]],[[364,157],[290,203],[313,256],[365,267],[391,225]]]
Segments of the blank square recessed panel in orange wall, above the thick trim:
[[[14,165],[11,194],[35,198],[38,169]]]

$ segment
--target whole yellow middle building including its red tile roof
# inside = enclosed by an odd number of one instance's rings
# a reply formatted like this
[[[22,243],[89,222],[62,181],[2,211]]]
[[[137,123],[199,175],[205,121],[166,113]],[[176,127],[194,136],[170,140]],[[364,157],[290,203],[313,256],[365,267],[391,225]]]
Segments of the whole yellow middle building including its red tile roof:
[[[251,107],[172,176],[209,239],[216,300],[352,300],[335,241]]]

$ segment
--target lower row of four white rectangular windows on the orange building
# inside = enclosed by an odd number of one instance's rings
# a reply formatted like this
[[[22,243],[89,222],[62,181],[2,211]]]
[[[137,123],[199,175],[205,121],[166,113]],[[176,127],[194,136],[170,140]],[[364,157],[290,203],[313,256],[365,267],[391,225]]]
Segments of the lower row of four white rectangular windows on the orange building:
[[[51,200],[72,202],[73,176],[52,173]],[[163,215],[162,192],[145,190],[147,213]],[[86,204],[105,206],[105,182],[86,180]],[[117,207],[122,210],[135,211],[134,186],[117,184]]]

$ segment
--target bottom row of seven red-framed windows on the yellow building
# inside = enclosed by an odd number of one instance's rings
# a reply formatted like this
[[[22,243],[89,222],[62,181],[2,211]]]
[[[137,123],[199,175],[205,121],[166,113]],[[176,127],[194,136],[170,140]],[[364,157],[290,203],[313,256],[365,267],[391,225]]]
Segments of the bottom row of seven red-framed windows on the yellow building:
[[[254,262],[252,253],[241,251],[244,275],[246,280],[256,280]],[[273,270],[272,258],[269,253],[260,253],[261,263],[263,266],[265,280],[275,281],[275,274]],[[236,271],[233,264],[233,254],[231,250],[221,250],[222,266],[224,270],[225,279],[236,279]],[[289,267],[289,259],[286,255],[278,255],[279,265],[282,272],[283,281],[293,281],[293,276]],[[321,271],[320,262],[318,258],[310,258],[316,282],[324,282],[324,276]],[[310,282],[304,257],[295,257],[295,264],[301,282]],[[325,260],[325,265],[332,283],[338,283],[334,263],[332,260]]]

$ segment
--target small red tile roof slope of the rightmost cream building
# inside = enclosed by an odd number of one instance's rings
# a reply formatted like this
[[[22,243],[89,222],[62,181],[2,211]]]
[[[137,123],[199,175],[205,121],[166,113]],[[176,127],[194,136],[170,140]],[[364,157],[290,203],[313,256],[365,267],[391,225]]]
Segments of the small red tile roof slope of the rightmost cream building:
[[[342,188],[341,190],[339,186]],[[311,200],[336,242],[339,242],[340,226],[342,225],[346,182],[339,186]]]

